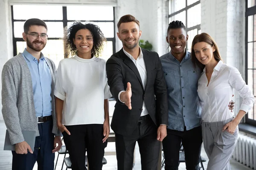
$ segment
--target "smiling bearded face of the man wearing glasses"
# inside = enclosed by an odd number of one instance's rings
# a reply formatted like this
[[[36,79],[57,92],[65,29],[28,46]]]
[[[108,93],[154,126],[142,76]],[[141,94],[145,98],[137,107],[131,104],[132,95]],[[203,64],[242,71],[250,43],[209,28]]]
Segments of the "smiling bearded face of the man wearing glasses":
[[[42,40],[41,36],[38,36],[37,39],[33,39],[30,34],[47,34],[47,29],[44,26],[30,26],[29,31],[26,33],[23,33],[22,35],[23,40],[26,41],[27,48],[37,52],[42,51],[47,43],[47,39]]]

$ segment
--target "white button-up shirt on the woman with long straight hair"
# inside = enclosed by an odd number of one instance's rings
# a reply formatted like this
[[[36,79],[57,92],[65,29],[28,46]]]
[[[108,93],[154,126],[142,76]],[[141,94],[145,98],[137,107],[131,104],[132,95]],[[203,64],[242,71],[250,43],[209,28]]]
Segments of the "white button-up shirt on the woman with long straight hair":
[[[203,105],[202,121],[222,122],[234,117],[228,105],[233,95],[233,88],[243,98],[240,110],[246,113],[253,107],[254,96],[245,84],[237,68],[219,61],[215,66],[207,86],[206,68],[198,80],[198,96]]]

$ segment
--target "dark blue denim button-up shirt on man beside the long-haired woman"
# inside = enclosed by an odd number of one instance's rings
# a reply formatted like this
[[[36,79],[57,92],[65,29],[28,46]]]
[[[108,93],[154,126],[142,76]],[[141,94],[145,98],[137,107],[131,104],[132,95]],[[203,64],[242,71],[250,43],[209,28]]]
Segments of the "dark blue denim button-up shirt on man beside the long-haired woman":
[[[201,125],[201,107],[198,99],[198,79],[201,75],[186,51],[179,62],[171,52],[160,57],[168,93],[168,129],[183,131]]]

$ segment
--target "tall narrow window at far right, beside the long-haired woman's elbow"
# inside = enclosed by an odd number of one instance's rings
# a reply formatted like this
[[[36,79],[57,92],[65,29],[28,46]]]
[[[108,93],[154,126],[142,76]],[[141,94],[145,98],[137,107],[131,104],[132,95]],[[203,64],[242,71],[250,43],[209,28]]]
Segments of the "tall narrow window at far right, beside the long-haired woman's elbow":
[[[245,79],[256,98],[256,0],[246,0]],[[246,123],[256,126],[256,103],[246,115]]]

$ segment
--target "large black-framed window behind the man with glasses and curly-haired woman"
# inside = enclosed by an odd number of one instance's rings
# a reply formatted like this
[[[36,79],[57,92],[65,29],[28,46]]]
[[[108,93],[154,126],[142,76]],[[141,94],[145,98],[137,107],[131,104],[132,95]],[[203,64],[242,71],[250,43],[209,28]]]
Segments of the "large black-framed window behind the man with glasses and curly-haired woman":
[[[44,11],[44,12],[42,12]],[[47,12],[45,12],[47,11]],[[99,11],[99,12],[95,12]],[[100,11],[104,11],[104,14]],[[107,38],[101,58],[108,59],[115,53],[114,7],[112,6],[57,6],[57,5],[13,5],[13,51],[14,56],[24,51],[26,42],[22,39],[24,22],[29,18],[44,20],[48,27],[47,45],[42,50],[44,56],[58,63],[64,57],[70,57],[64,49],[64,29],[74,21],[94,23]]]

